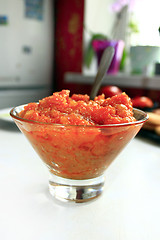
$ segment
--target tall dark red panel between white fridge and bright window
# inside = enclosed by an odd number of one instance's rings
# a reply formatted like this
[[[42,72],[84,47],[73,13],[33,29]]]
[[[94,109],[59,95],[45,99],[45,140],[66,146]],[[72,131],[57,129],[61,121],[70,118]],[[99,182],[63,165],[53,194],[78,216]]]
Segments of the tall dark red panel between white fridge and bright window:
[[[56,90],[75,91],[66,83],[66,72],[81,72],[83,61],[84,0],[55,1],[55,83]]]

